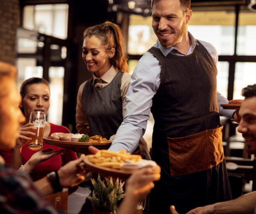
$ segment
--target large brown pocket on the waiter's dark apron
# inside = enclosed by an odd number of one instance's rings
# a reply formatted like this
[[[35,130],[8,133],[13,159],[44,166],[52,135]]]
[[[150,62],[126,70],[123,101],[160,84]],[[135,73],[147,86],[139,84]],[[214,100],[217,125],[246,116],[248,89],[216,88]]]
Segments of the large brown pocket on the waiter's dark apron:
[[[187,175],[217,166],[224,159],[222,125],[182,138],[168,138],[170,173]]]

